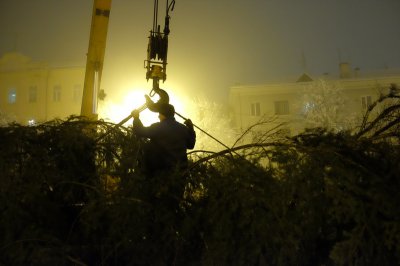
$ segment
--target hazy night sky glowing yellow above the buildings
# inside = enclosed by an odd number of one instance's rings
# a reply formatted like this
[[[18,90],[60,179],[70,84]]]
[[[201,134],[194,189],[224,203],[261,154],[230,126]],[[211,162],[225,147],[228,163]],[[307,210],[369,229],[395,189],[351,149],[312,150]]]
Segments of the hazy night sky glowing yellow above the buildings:
[[[102,81],[111,97],[145,82],[153,2],[113,0]],[[92,4],[0,0],[0,55],[84,66]],[[231,85],[335,74],[339,59],[362,71],[400,68],[399,14],[398,0],[176,0],[163,86],[226,101]]]

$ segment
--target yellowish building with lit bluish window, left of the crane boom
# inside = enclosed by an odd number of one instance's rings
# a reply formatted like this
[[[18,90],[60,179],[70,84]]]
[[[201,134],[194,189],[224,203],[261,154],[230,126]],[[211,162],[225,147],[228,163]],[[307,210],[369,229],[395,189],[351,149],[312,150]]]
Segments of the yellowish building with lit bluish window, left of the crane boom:
[[[48,67],[20,53],[0,59],[0,122],[22,125],[79,115],[85,68]]]

